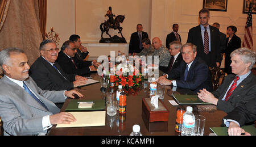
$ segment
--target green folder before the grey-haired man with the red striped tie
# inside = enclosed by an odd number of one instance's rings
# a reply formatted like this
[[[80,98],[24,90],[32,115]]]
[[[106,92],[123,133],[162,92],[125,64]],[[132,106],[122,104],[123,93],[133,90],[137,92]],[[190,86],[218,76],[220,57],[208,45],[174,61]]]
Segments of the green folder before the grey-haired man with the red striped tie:
[[[197,95],[172,94],[172,96],[174,96],[174,99],[176,99],[179,104],[210,104],[197,98]]]

